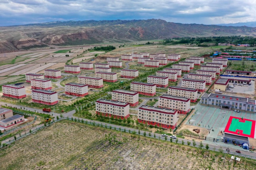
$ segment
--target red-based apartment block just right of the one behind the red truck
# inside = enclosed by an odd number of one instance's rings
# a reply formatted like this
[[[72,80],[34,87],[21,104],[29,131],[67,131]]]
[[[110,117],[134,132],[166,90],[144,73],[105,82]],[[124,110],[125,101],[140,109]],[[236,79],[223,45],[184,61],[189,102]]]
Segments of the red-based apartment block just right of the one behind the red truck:
[[[79,83],[65,84],[65,94],[83,97],[88,95],[88,85]]]

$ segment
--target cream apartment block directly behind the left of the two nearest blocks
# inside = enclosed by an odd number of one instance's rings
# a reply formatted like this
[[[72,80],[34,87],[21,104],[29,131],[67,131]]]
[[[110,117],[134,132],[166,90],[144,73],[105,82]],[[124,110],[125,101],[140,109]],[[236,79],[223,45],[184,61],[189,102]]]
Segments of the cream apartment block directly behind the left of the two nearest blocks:
[[[132,107],[139,104],[139,93],[136,91],[116,89],[112,91],[111,96],[112,100],[129,103]]]

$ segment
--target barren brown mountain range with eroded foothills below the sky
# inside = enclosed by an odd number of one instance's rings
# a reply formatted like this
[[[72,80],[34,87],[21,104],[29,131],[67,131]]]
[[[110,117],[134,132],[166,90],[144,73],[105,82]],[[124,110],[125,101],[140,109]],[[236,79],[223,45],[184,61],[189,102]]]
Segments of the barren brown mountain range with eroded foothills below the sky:
[[[161,19],[55,21],[0,27],[0,53],[103,42],[129,42],[180,37],[255,36],[256,28],[182,24]]]

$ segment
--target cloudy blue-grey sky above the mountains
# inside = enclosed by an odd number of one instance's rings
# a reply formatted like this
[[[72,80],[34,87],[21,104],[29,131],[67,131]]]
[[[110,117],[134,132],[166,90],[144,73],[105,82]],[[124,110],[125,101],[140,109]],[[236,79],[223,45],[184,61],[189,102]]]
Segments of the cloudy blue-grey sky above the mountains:
[[[220,24],[256,21],[255,13],[256,0],[0,0],[0,26],[151,18]]]

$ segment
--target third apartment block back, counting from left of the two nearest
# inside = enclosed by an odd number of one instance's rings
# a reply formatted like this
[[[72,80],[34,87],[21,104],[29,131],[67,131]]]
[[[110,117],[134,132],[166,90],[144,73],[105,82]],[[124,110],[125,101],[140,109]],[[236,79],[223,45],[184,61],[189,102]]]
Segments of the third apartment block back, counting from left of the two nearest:
[[[131,83],[130,89],[146,96],[154,96],[156,94],[156,84],[152,83],[134,81]]]

